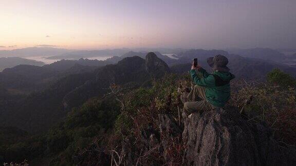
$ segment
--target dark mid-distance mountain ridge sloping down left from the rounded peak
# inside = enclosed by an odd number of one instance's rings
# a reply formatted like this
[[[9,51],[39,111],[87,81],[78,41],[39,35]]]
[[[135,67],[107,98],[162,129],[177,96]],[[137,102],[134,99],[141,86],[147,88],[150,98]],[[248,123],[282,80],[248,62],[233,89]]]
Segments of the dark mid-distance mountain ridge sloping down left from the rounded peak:
[[[72,74],[60,79],[49,88],[18,101],[12,110],[6,110],[6,118],[0,121],[4,126],[15,126],[38,133],[48,129],[53,122],[60,121],[71,108],[82,105],[91,97],[102,97],[112,84],[139,87],[149,79],[145,59],[139,56],[126,57],[116,65],[107,65],[88,73]],[[7,120],[9,117],[14,117],[15,120]]]

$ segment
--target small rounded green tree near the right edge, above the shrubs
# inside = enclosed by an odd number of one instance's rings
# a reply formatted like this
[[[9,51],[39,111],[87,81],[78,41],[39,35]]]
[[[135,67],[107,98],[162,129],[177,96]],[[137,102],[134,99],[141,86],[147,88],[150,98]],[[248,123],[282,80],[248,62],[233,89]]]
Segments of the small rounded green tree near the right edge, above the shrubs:
[[[278,85],[281,87],[295,87],[296,79],[290,74],[284,73],[280,69],[273,69],[267,74],[267,81],[271,84]]]

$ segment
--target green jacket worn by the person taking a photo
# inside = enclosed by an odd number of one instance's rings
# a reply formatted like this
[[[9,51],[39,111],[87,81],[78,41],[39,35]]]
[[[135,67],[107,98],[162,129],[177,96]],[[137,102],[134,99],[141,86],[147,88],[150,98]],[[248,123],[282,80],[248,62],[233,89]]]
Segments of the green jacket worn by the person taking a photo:
[[[215,107],[224,107],[230,98],[229,81],[235,76],[230,72],[214,71],[209,74],[205,69],[190,70],[191,77],[196,85],[206,88],[206,98]],[[198,75],[202,77],[199,78]]]

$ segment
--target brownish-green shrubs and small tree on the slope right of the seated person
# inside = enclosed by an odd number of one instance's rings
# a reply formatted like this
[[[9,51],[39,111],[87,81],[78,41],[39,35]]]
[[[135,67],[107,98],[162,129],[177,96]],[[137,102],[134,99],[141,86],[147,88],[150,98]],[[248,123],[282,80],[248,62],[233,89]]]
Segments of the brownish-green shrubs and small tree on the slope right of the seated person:
[[[274,69],[268,74],[272,84],[246,84],[233,91],[230,105],[242,109],[249,119],[264,121],[279,141],[294,144],[296,141],[296,89],[289,74]],[[276,86],[274,86],[276,85]],[[245,105],[246,99],[250,102]]]

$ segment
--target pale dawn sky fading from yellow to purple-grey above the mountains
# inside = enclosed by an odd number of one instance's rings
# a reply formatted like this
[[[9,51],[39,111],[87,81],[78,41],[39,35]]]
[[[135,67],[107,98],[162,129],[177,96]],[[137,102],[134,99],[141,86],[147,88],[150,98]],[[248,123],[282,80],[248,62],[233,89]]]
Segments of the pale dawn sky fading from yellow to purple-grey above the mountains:
[[[0,50],[296,48],[295,0],[0,0]]]

